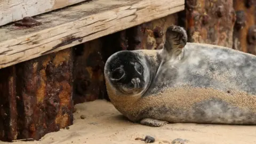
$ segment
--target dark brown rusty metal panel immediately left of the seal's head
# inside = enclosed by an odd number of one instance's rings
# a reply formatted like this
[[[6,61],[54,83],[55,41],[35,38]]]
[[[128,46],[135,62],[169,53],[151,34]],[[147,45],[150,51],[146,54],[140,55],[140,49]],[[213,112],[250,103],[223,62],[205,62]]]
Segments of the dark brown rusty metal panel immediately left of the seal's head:
[[[103,98],[106,93],[103,77],[100,39],[74,47],[74,104]]]

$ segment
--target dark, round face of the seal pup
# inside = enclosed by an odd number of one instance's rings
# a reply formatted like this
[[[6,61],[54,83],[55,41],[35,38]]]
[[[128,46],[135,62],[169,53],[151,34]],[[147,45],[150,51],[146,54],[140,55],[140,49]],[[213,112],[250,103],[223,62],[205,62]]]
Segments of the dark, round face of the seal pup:
[[[123,94],[140,94],[149,83],[147,60],[136,52],[119,51],[108,58],[105,78]]]

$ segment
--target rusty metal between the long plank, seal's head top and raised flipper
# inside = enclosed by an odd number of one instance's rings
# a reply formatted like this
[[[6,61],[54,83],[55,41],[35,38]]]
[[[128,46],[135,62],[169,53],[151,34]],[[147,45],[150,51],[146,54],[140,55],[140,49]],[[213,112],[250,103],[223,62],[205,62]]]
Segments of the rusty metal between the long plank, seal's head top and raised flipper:
[[[127,42],[121,41],[121,45],[125,45],[123,43],[126,42],[127,50],[162,49],[165,31],[167,27],[177,25],[177,19],[177,14],[171,14],[164,18],[127,29],[125,30]]]

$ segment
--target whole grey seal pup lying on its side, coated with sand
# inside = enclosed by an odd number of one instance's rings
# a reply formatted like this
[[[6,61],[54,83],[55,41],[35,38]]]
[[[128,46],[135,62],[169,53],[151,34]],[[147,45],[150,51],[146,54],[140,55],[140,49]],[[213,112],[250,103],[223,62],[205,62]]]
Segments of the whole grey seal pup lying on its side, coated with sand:
[[[111,103],[132,122],[256,124],[256,56],[188,43],[170,26],[161,50],[119,51],[105,65]]]

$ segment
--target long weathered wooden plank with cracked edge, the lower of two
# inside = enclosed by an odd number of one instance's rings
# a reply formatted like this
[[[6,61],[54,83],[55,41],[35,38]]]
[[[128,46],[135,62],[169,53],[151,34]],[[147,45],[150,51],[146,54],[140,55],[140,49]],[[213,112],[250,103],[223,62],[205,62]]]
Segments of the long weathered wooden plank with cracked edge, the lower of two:
[[[95,0],[35,18],[42,25],[0,28],[0,68],[63,50],[184,10],[181,0]]]

